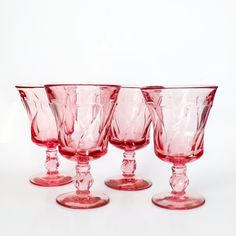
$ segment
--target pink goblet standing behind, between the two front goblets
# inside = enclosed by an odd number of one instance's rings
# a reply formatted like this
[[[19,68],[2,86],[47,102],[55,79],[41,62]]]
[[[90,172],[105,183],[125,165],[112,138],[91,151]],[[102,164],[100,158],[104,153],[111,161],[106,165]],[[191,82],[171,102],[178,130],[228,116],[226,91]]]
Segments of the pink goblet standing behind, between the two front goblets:
[[[135,176],[135,151],[149,144],[151,116],[138,87],[122,87],[111,123],[110,143],[124,150],[122,176],[105,184],[113,189],[135,191],[151,186],[151,182]]]

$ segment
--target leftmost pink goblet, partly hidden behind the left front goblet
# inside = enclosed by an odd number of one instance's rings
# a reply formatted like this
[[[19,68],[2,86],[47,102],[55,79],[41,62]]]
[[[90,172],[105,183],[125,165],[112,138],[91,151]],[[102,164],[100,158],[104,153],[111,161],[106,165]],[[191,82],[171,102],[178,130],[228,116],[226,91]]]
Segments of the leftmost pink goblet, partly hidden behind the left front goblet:
[[[16,86],[16,88],[30,120],[32,141],[39,146],[46,147],[45,168],[47,172],[32,176],[30,182],[44,187],[70,183],[72,178],[58,171],[58,132],[44,87]]]

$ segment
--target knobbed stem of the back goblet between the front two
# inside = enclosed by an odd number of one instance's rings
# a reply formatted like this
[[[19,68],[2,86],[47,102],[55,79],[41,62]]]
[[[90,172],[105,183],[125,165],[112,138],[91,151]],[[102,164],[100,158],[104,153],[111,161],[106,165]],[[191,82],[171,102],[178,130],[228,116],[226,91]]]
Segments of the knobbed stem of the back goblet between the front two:
[[[124,159],[121,165],[122,174],[125,178],[134,177],[136,170],[135,152],[124,152]]]

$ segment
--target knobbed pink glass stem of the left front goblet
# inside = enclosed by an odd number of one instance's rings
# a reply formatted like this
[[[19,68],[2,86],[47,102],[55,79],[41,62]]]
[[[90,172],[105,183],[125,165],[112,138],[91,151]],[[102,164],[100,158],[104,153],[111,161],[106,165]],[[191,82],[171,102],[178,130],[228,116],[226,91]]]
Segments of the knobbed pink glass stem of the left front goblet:
[[[93,177],[90,173],[90,165],[88,162],[76,165],[76,176],[74,177],[74,185],[78,195],[88,195],[89,189],[93,184]]]

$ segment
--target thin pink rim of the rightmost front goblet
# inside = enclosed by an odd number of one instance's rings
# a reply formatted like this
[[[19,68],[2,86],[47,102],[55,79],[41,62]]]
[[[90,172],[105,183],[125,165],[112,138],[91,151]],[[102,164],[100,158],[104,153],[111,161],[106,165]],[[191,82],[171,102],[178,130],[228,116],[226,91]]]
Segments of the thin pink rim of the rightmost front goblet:
[[[161,86],[161,85],[153,85],[153,86],[145,86],[142,87],[141,90],[152,90],[152,89],[217,89],[217,85],[173,85],[173,86]]]

